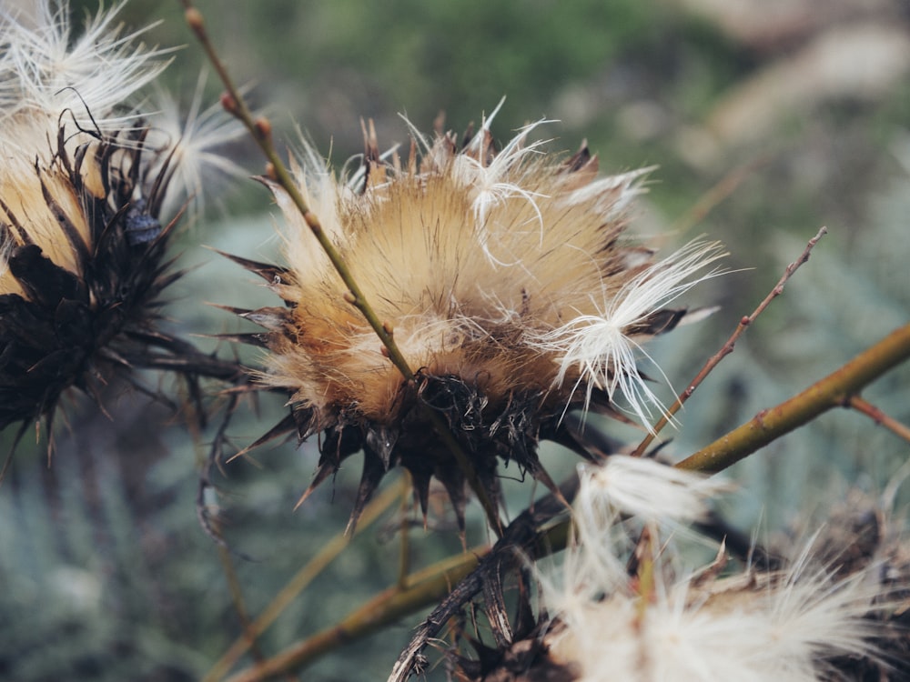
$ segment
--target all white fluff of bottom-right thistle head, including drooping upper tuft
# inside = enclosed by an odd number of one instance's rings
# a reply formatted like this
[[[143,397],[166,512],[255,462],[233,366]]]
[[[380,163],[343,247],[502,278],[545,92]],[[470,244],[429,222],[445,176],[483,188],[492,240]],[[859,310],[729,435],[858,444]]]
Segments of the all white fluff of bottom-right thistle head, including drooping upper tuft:
[[[627,573],[632,547],[620,512],[657,523],[657,533],[667,519],[697,520],[720,489],[623,456],[582,471],[576,544],[561,571],[538,570],[543,604],[565,626],[548,637],[551,657],[574,664],[579,682],[815,682],[829,678],[835,657],[880,658],[876,621],[868,618],[888,607],[880,567],[872,562],[837,577],[814,560],[815,538],[782,572],[746,568],[707,579],[675,577],[677,553],[654,541],[645,546],[652,547],[652,593],[640,593]]]

